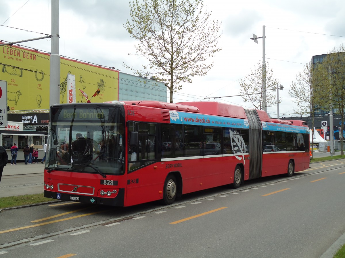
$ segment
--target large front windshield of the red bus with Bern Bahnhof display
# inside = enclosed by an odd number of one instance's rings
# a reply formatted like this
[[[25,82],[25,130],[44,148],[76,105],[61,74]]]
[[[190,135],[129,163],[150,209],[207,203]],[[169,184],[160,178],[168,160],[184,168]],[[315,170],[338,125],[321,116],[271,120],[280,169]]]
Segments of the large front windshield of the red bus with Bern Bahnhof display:
[[[124,122],[122,105],[51,107],[46,168],[123,174]]]

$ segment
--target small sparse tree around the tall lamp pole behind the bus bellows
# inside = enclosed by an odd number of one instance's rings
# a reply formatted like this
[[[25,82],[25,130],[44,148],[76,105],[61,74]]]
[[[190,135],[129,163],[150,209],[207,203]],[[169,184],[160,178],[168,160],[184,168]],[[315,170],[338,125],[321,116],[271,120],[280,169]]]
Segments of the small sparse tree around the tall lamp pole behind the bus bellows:
[[[263,78],[266,78],[266,107],[274,106],[277,104],[276,96],[270,89],[277,86],[277,80],[273,77],[272,68],[268,68],[268,63],[264,73],[262,63],[259,61],[257,66],[250,68],[250,74],[239,80],[240,94],[244,95],[243,100],[252,103],[256,109],[263,109]]]

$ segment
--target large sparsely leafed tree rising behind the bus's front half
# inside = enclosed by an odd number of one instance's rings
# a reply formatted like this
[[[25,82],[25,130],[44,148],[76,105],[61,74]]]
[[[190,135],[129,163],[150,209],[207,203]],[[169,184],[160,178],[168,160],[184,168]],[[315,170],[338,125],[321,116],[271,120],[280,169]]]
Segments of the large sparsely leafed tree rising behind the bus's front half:
[[[217,47],[221,23],[210,20],[203,0],[135,0],[129,6],[131,21],[125,29],[139,42],[134,55],[149,64],[142,65],[144,71],[125,66],[166,82],[172,103],[181,83],[191,83],[192,77],[206,75],[213,66],[207,59],[221,50]]]

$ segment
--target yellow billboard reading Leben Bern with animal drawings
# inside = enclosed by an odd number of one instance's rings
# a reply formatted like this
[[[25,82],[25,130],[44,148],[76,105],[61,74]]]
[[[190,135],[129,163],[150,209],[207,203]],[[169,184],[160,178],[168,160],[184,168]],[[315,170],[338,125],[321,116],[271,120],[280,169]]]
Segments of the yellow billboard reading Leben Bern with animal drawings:
[[[8,45],[0,46],[0,54],[0,80],[7,81],[10,110],[49,109],[50,55]],[[93,103],[118,100],[118,71],[61,57],[60,103],[67,103],[67,74],[75,75],[76,102],[87,101],[80,90]]]

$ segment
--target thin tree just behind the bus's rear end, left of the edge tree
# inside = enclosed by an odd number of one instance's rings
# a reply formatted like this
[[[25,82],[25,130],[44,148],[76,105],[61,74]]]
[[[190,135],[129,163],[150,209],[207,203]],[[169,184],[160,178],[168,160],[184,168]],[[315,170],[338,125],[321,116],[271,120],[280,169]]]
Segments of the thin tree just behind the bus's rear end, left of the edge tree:
[[[296,75],[292,82],[289,96],[295,103],[294,112],[299,115],[310,114],[312,117],[312,146],[314,146],[314,114],[328,103],[328,90],[325,82],[325,73],[321,66],[312,63],[305,64],[302,72]],[[313,156],[313,148],[312,148]]]

